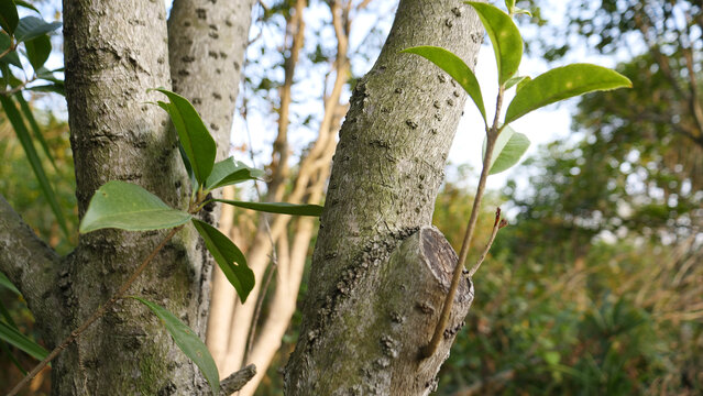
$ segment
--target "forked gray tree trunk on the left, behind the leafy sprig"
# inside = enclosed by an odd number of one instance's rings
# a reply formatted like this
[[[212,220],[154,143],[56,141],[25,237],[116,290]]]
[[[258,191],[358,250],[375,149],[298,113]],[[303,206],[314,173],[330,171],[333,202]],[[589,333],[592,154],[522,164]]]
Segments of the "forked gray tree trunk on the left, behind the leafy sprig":
[[[190,190],[176,134],[167,114],[149,103],[164,97],[146,92],[171,87],[169,54],[180,76],[177,89],[200,111],[209,111],[204,118],[227,151],[252,0],[217,9],[212,1],[200,2],[175,1],[172,22],[179,32],[169,43],[163,2],[64,1],[66,100],[80,217],[95,190],[114,179],[139,184],[185,209]],[[194,29],[183,28],[187,20]],[[210,34],[202,42],[205,21]],[[195,62],[202,54],[189,46],[194,43],[197,50],[216,51],[222,62]],[[103,305],[164,234],[100,230],[80,235],[76,250],[58,257],[0,199],[0,270],[22,292],[50,348]],[[166,244],[129,294],[166,307],[204,333],[208,266],[199,237],[188,227]],[[55,395],[209,392],[162,323],[129,298],[54,360],[52,377]]]

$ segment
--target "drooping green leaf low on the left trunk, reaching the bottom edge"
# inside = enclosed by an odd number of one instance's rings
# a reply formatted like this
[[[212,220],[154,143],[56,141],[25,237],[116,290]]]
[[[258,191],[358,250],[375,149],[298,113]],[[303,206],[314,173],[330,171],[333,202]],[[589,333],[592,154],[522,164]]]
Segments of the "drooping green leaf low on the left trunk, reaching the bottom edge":
[[[198,336],[167,309],[140,297],[133,296],[132,298],[149,307],[156,315],[171,333],[171,337],[173,337],[176,345],[200,367],[202,375],[210,384],[212,394],[217,396],[220,393],[220,373],[208,348]]]

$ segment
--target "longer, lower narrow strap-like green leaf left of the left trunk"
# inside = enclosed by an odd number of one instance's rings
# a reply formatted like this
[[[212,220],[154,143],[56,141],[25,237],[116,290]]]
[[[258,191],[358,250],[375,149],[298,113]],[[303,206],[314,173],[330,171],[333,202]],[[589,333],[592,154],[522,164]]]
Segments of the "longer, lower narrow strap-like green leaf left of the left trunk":
[[[17,107],[14,107],[14,102],[11,98],[0,96],[0,102],[2,103],[2,108],[4,109],[4,113],[10,119],[10,123],[12,123],[12,128],[14,129],[14,133],[22,144],[22,148],[26,154],[26,158],[32,166],[32,170],[36,176],[36,180],[40,184],[40,188],[46,198],[52,211],[56,216],[56,221],[58,221],[58,226],[64,231],[64,234],[68,237],[68,228],[66,227],[66,220],[64,219],[64,213],[61,210],[61,206],[58,205],[58,200],[56,199],[56,195],[54,194],[54,189],[52,185],[48,183],[48,178],[46,177],[46,173],[44,172],[44,166],[39,158],[36,153],[36,148],[34,148],[34,144],[32,143],[32,138],[30,136],[30,132],[26,130],[26,125],[24,125],[24,121],[22,120],[22,116],[18,111]]]

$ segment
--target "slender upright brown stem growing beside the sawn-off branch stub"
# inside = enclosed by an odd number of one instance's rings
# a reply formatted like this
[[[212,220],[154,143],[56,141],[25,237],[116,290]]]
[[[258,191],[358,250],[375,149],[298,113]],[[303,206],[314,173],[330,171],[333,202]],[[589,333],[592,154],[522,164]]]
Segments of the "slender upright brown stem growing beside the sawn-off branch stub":
[[[466,232],[464,233],[464,240],[461,245],[461,251],[459,252],[459,260],[457,261],[457,265],[454,266],[451,285],[449,286],[449,292],[444,299],[442,311],[439,316],[439,321],[435,327],[432,339],[430,340],[429,344],[420,349],[421,359],[430,358],[435,354],[435,352],[437,352],[437,349],[439,348],[439,344],[442,340],[442,334],[444,333],[444,328],[449,322],[449,316],[454,302],[454,295],[457,294],[457,289],[459,288],[459,280],[462,278],[461,275],[464,271],[464,262],[466,261],[466,256],[469,255],[469,249],[473,239],[473,232],[476,228],[476,220],[479,219],[479,210],[481,209],[481,201],[483,200],[486,179],[488,178],[488,173],[491,172],[493,148],[495,147],[495,141],[498,139],[498,134],[501,134],[501,131],[503,130],[502,127],[498,127],[498,119],[501,117],[501,107],[503,106],[504,94],[505,86],[501,85],[495,103],[495,117],[493,118],[493,125],[491,127],[491,129],[486,130],[486,153],[483,157],[483,168],[481,169],[481,176],[479,178],[479,187],[476,188],[476,195],[473,199],[471,216],[469,217],[469,223],[466,224]]]

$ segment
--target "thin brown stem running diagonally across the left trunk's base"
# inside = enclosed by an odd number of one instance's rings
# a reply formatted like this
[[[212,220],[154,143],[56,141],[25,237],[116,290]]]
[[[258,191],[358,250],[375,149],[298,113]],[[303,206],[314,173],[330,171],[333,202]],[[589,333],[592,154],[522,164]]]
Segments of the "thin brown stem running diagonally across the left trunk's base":
[[[178,226],[174,228],[173,230],[171,230],[166,234],[166,237],[164,237],[161,243],[156,248],[154,248],[154,250],[149,254],[149,256],[144,258],[144,261],[142,261],[140,266],[136,267],[136,270],[122,284],[122,286],[120,286],[118,292],[114,293],[112,297],[110,297],[110,299],[105,305],[102,305],[95,312],[92,312],[92,315],[88,319],[86,319],[83,322],[83,324],[80,324],[77,329],[72,331],[70,334],[66,337],[66,339],[64,339],[64,341],[58,346],[54,348],[54,350],[50,352],[50,354],[46,355],[46,358],[42,362],[40,362],[36,366],[34,366],[34,369],[32,369],[32,371],[26,376],[24,376],[24,378],[22,378],[22,381],[14,388],[12,388],[12,391],[10,391],[10,393],[8,393],[7,396],[17,395],[30,381],[32,381],[32,378],[34,378],[34,376],[36,376],[36,374],[39,374],[39,372],[41,372],[42,370],[44,370],[44,367],[46,367],[48,362],[54,360],[54,358],[56,358],[63,350],[65,350],[66,346],[68,346],[78,337],[80,337],[80,334],[84,331],[86,331],[90,327],[90,324],[92,324],[96,320],[100,319],[107,312],[107,310],[114,305],[114,302],[117,302],[120,298],[122,298],[124,294],[127,293],[127,290],[130,288],[130,286],[132,286],[134,280],[136,280],[136,278],[144,272],[144,270],[146,268],[146,265],[149,265],[149,263],[151,263],[152,260],[156,257],[156,254],[162,249],[164,249],[166,243],[168,243],[168,241],[171,241],[171,239],[176,234],[176,232],[180,231],[180,229],[183,228],[184,226]]]

